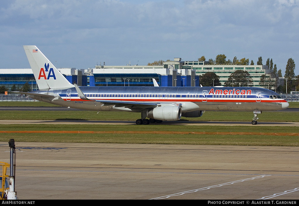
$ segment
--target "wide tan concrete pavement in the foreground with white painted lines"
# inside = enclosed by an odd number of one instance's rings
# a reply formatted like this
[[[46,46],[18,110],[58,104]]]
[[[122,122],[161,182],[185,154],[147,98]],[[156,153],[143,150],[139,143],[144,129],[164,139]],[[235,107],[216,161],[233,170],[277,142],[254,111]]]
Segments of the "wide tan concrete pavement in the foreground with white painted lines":
[[[15,144],[19,200],[299,196],[299,147]],[[7,142],[0,153],[9,162]]]

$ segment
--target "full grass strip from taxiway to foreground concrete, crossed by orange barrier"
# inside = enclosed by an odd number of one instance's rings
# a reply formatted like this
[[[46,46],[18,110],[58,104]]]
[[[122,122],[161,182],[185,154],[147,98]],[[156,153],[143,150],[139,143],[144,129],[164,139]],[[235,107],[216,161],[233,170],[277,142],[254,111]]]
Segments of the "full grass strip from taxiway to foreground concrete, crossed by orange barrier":
[[[182,131],[182,132],[298,132],[297,127],[271,126],[182,126],[182,125],[1,125],[2,131]],[[8,142],[86,142],[119,144],[201,144],[299,146],[298,136],[273,135],[196,135],[196,134],[57,134],[0,133],[0,141]]]

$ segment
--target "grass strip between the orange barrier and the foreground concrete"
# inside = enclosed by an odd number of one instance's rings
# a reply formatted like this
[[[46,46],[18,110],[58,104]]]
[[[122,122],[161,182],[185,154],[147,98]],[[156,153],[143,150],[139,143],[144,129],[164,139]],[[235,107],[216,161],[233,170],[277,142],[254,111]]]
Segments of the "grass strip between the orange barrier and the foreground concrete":
[[[193,144],[193,145],[251,145],[299,146],[298,136],[256,135],[140,135],[140,134],[6,134],[0,141],[8,142],[71,142],[118,144]]]

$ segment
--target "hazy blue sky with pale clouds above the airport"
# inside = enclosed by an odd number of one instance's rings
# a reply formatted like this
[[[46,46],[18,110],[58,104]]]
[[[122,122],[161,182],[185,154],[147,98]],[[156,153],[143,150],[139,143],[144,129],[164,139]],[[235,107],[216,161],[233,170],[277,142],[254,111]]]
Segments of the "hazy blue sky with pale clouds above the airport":
[[[272,58],[284,75],[289,58],[299,63],[295,0],[0,2],[0,68],[30,68],[22,45],[36,45],[57,68],[225,54]]]

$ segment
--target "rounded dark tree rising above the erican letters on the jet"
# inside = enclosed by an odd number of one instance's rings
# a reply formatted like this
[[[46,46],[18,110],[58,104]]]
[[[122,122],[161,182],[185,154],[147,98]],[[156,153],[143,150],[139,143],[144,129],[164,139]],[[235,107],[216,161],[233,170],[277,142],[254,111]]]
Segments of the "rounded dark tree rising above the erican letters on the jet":
[[[234,82],[234,85],[233,85]],[[225,86],[247,86],[252,84],[252,78],[248,71],[236,70],[231,73],[228,80],[224,83]]]

